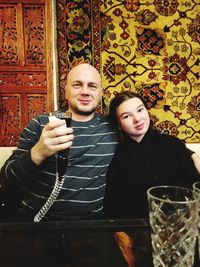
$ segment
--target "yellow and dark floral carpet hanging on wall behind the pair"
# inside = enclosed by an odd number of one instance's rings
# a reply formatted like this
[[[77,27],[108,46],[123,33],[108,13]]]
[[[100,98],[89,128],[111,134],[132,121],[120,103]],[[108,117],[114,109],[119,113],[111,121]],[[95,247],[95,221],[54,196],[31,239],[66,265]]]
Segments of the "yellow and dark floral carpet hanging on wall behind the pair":
[[[66,2],[66,66],[60,82],[69,67],[90,62],[102,74],[102,112],[117,92],[136,91],[158,129],[199,143],[200,1]]]

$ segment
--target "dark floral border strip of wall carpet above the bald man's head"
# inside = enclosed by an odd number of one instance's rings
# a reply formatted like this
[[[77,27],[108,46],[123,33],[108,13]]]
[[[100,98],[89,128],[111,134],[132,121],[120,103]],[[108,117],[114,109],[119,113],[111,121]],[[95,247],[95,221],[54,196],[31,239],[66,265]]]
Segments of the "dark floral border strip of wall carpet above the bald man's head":
[[[87,62],[100,71],[99,11],[98,0],[56,1],[58,97],[61,108],[67,106],[65,85],[70,68]]]

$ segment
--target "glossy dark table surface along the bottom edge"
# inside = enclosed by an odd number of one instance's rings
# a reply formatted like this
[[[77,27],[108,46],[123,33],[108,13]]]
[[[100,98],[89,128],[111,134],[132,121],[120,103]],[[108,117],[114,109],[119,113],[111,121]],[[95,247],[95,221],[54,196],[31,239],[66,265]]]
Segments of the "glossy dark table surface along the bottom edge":
[[[148,219],[1,222],[0,266],[127,267],[115,232],[134,237],[135,267],[153,266]]]

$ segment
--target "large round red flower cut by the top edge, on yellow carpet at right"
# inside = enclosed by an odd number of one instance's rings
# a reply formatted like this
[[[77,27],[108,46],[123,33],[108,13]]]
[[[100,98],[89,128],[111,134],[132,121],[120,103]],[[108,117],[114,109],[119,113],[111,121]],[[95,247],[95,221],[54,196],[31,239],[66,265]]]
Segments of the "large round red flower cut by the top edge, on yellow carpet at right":
[[[162,16],[172,16],[176,13],[179,3],[177,0],[155,0],[154,5]]]

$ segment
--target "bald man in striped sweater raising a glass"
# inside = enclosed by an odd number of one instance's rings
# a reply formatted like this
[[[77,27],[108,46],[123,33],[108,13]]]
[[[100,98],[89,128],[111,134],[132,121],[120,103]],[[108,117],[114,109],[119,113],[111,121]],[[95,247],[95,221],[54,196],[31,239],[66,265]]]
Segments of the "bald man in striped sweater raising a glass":
[[[56,153],[69,148],[69,163],[58,198],[45,215],[47,220],[103,218],[105,175],[116,140],[107,118],[95,109],[101,99],[101,77],[87,63],[67,77],[66,98],[72,128],[47,115],[34,118],[20,135],[19,145],[1,171],[6,194],[22,191],[19,214],[33,220],[51,194],[56,180]]]

